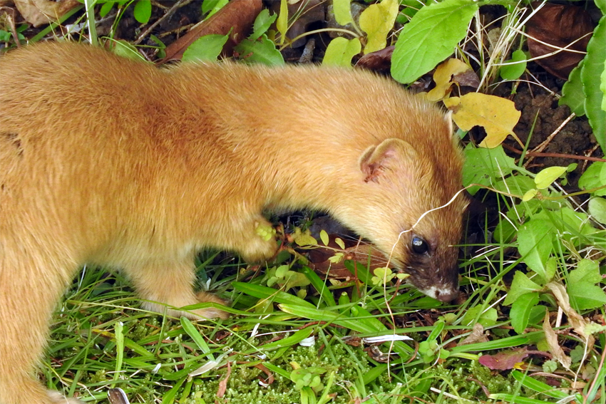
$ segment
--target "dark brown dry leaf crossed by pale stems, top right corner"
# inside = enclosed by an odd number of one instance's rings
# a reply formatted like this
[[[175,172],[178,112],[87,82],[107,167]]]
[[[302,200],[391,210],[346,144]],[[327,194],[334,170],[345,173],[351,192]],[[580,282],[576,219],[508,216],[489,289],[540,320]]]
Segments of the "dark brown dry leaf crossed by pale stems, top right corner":
[[[533,6],[538,6],[538,4],[535,2]],[[593,31],[589,13],[582,7],[568,4],[547,3],[543,5],[525,27],[526,33],[528,33],[528,51],[533,58],[553,53],[556,50],[553,46],[563,48]],[[590,36],[585,36],[569,49],[585,52],[589,38]],[[567,50],[547,58],[537,59],[536,63],[554,76],[566,80],[572,68],[577,66],[584,56],[583,53]]]

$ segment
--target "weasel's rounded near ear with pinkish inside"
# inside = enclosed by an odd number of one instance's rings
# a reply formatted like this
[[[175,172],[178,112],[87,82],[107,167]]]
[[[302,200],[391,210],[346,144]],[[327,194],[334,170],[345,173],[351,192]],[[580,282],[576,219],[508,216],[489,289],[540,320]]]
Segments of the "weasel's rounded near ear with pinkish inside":
[[[358,161],[365,175],[364,182],[379,182],[386,171],[410,167],[416,156],[416,150],[406,140],[387,139],[364,150]]]

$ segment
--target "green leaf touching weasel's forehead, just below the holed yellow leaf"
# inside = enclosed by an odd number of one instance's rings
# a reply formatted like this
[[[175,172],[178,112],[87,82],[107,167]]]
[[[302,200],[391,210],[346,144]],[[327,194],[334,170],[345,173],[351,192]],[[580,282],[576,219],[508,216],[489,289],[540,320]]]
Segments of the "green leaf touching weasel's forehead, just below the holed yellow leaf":
[[[469,144],[465,149],[463,162],[463,185],[480,184],[491,186],[495,180],[510,175],[516,168],[515,160],[505,155],[502,146],[493,149],[474,148]],[[475,195],[479,187],[470,187],[468,192]]]

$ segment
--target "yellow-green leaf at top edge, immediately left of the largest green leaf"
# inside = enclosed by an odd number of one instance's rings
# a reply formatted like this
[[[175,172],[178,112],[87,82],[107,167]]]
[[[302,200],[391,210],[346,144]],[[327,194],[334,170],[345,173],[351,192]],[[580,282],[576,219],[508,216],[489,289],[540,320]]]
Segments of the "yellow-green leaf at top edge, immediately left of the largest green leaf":
[[[360,28],[368,35],[364,54],[381,51],[387,45],[387,34],[394,28],[398,15],[397,0],[383,0],[371,4],[360,15]]]

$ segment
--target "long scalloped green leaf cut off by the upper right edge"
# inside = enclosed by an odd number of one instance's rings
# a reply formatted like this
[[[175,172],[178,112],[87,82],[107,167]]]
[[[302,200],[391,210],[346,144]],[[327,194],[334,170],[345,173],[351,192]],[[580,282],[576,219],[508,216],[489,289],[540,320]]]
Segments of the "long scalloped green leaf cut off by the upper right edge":
[[[593,30],[589,43],[587,43],[587,55],[583,59],[581,80],[583,93],[585,93],[585,113],[593,130],[597,143],[606,152],[606,110],[602,109],[604,94],[600,90],[600,78],[604,71],[606,61],[606,16],[602,16]]]

